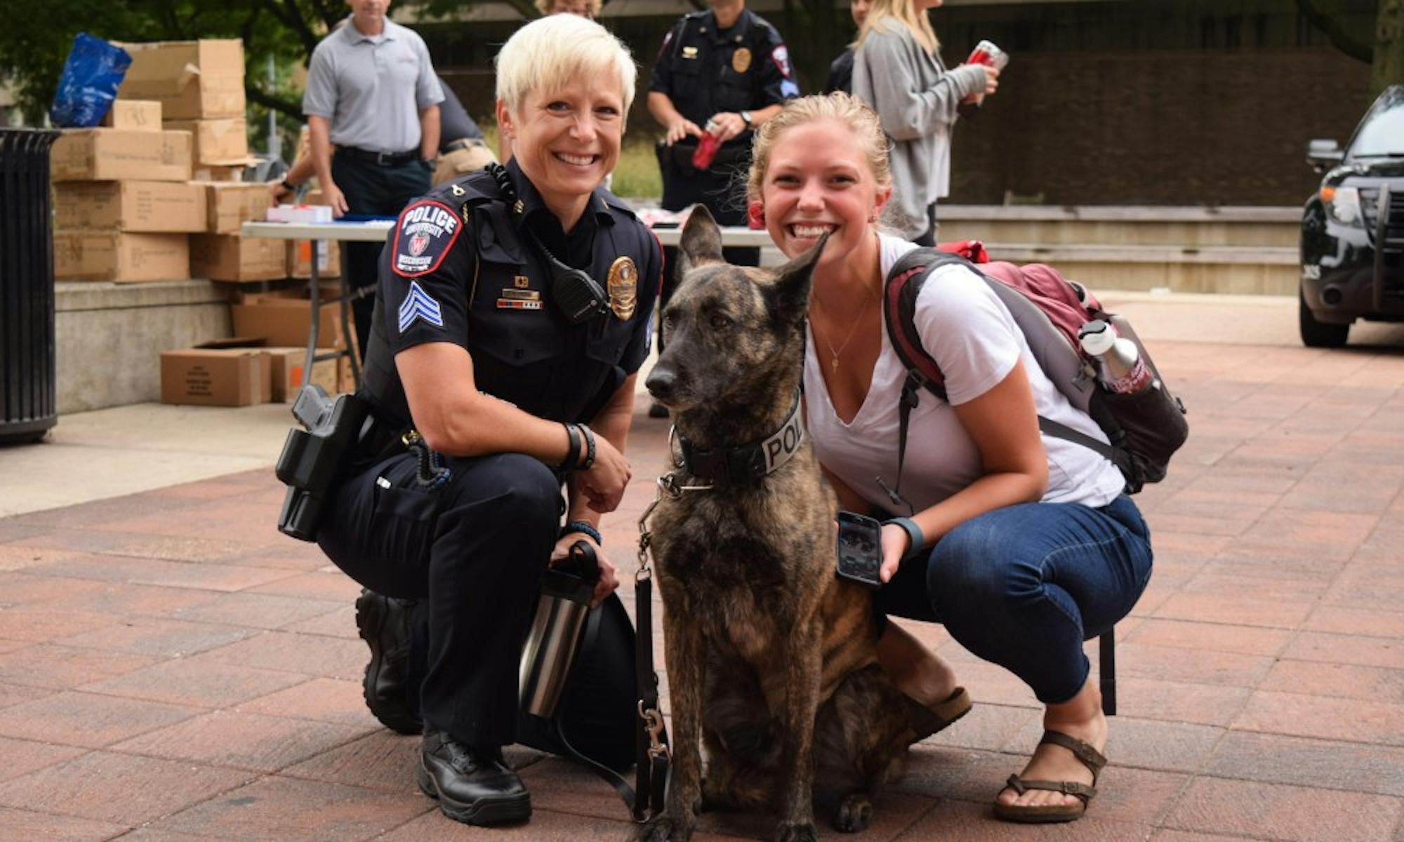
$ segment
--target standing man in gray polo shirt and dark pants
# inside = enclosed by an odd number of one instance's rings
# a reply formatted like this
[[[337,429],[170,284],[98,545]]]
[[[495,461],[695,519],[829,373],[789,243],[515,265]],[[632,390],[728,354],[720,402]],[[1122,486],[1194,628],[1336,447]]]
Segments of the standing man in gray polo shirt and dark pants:
[[[390,0],[347,6],[350,21],[322,39],[307,69],[302,112],[312,131],[312,161],[334,216],[395,216],[430,189],[444,93],[424,39],[385,17]],[[347,279],[365,290],[352,302],[362,354],[379,253],[375,243],[347,248]]]

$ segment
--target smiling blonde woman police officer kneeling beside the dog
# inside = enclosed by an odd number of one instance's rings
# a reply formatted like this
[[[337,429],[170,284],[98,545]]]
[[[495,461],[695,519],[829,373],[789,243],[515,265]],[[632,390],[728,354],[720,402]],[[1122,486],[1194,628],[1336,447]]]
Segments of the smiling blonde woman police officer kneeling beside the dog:
[[[500,751],[518,738],[522,637],[548,561],[580,539],[598,552],[600,512],[629,480],[661,254],[597,185],[635,73],[583,17],[534,21],[503,46],[497,121],[515,154],[410,202],[389,234],[361,392],[375,425],[319,535],[362,585],[421,599],[417,780],[469,824],[531,814]],[[598,559],[597,601],[616,585]],[[595,711],[622,726],[623,758],[630,714],[628,697]]]

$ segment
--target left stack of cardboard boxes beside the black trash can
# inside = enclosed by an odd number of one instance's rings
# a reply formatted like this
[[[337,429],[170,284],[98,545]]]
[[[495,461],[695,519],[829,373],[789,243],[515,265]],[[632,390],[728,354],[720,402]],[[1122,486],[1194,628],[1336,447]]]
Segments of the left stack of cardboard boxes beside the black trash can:
[[[80,281],[190,276],[188,232],[205,229],[205,194],[188,184],[188,132],[160,128],[156,102],[111,112],[112,128],[66,131],[49,154],[53,275]]]

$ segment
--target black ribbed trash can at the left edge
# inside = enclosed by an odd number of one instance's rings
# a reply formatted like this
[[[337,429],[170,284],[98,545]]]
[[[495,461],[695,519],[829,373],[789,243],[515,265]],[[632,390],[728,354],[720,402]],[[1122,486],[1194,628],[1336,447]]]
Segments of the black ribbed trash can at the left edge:
[[[0,443],[58,422],[46,129],[0,129]]]

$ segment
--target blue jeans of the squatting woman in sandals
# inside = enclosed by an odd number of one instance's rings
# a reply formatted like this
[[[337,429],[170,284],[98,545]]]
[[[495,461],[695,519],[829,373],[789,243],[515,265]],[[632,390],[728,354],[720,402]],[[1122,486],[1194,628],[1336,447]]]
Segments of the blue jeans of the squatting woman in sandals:
[[[1099,509],[1026,502],[956,526],[924,564],[922,554],[908,556],[876,608],[943,623],[1039,702],[1059,704],[1087,682],[1082,641],[1132,610],[1150,568],[1150,529],[1125,494]]]

